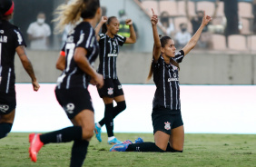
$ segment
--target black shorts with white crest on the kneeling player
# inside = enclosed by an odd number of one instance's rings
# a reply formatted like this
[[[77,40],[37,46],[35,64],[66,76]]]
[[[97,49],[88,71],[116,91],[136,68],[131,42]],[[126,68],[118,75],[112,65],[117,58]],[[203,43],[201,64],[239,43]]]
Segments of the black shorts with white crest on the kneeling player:
[[[162,131],[163,133],[171,134],[171,130],[183,125],[182,113],[168,109],[153,109],[152,113],[153,133]]]

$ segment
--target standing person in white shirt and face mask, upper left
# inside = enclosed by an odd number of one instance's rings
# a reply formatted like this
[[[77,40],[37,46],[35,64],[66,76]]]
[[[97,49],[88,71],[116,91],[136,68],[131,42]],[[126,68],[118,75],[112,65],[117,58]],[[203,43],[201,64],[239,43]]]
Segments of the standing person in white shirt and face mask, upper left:
[[[47,50],[49,45],[49,36],[51,35],[50,26],[45,24],[44,13],[37,15],[36,22],[29,25],[26,33],[30,41],[30,48],[34,50]]]

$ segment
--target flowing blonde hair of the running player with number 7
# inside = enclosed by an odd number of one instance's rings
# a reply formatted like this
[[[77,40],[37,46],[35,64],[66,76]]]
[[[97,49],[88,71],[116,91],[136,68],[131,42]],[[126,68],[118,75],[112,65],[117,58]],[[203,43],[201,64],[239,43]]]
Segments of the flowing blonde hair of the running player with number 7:
[[[58,22],[55,32],[63,32],[65,25],[76,25],[77,22],[81,21],[81,14],[85,8],[84,0],[73,0],[70,4],[59,5],[54,12],[55,15],[58,15],[53,20],[53,22]]]

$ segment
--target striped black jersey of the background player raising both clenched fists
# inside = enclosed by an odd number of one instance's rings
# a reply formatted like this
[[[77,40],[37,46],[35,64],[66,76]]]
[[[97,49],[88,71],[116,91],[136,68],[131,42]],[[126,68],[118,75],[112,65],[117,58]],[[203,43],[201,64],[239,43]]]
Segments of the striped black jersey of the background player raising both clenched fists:
[[[119,53],[119,45],[123,45],[126,37],[115,34],[113,38],[107,34],[99,34],[100,40],[100,64],[98,73],[103,74],[103,78],[117,79],[116,58]]]

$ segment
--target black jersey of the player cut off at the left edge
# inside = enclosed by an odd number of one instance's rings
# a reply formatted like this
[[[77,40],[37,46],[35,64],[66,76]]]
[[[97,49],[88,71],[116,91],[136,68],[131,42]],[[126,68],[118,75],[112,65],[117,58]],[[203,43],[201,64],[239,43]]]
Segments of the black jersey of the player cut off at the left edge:
[[[0,21],[0,92],[15,92],[15,49],[26,45],[19,28]]]

